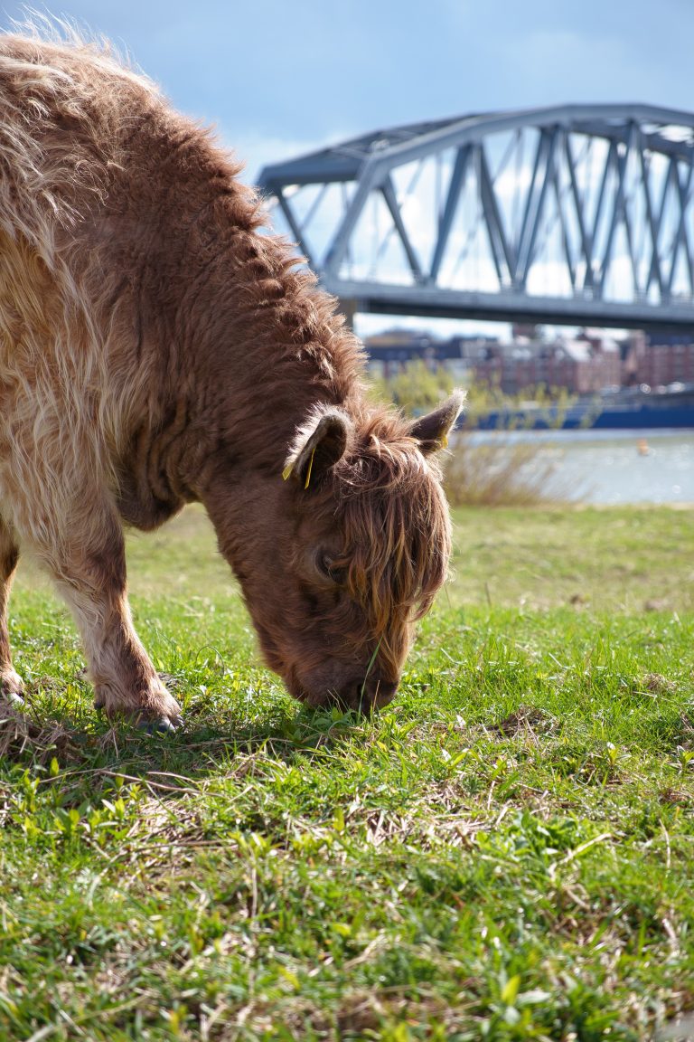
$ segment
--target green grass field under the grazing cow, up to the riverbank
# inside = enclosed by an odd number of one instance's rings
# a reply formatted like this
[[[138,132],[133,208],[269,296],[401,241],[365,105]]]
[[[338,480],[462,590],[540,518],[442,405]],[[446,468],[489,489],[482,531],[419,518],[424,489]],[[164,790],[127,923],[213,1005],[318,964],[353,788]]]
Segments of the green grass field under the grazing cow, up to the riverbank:
[[[165,738],[96,715],[27,571],[0,1039],[666,1037],[694,1010],[693,544],[689,511],[457,512],[456,581],[366,721],[258,665],[189,511],[129,552]]]

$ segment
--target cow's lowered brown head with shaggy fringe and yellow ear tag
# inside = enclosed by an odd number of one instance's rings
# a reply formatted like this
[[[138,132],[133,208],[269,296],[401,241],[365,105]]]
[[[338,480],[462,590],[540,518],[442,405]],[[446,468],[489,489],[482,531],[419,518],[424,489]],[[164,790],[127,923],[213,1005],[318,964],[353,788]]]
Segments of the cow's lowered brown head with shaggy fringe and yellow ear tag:
[[[446,576],[451,524],[436,454],[462,402],[457,392],[411,422],[320,406],[282,475],[249,477],[243,531],[234,525],[226,546],[220,532],[221,547],[267,664],[297,698],[368,710],[395,694],[413,622]]]

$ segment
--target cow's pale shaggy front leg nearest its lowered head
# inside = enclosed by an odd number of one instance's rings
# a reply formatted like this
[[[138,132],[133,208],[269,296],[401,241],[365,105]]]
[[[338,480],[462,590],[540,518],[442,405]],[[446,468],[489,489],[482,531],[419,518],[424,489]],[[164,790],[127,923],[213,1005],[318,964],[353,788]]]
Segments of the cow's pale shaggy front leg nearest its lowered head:
[[[62,538],[37,549],[75,616],[97,706],[169,729],[180,722],[180,709],[134,630],[121,523],[111,504],[97,497],[85,494]]]

